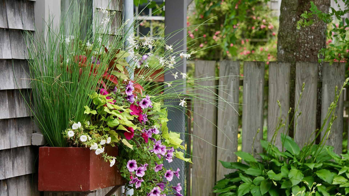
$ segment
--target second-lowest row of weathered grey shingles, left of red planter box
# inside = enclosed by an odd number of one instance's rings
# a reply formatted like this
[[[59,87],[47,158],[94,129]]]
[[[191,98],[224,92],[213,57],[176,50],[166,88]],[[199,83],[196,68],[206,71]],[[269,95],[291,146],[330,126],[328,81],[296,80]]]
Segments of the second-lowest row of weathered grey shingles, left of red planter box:
[[[0,150],[0,180],[33,173],[35,154],[33,146]]]

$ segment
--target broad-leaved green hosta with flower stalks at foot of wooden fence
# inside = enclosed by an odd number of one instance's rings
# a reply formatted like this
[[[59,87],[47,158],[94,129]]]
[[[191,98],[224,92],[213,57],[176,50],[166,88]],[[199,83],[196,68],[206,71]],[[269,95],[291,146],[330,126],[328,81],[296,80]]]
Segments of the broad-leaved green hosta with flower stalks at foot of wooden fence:
[[[347,85],[348,79],[343,87]],[[324,125],[317,133],[317,136],[320,132],[324,133],[319,144],[315,144],[315,139],[310,140],[300,149],[298,144],[287,136],[285,130],[288,129],[280,116],[272,140],[260,141],[264,152],[259,154],[259,159],[249,153],[238,151],[236,155],[245,163],[221,161],[225,168],[236,171],[218,181],[213,192],[221,193],[220,196],[347,195],[349,154],[339,156],[333,152],[332,146],[325,145],[328,135],[331,134],[332,123],[336,119],[334,111],[342,90],[343,88],[337,93],[337,88],[335,89],[335,99],[329,107]],[[327,121],[328,126],[325,127]],[[282,148],[278,149],[274,145],[275,136],[281,129]]]

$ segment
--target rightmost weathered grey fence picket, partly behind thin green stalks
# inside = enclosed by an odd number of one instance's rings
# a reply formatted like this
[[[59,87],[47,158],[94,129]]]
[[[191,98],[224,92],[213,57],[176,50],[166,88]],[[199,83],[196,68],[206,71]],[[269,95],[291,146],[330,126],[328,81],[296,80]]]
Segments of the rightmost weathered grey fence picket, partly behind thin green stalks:
[[[345,63],[334,63],[329,65],[329,63],[324,63],[322,67],[322,100],[321,100],[321,126],[324,124],[324,119],[326,118],[328,107],[334,101],[335,98],[335,86],[340,90],[344,83],[344,73],[345,73]],[[343,141],[343,100],[344,92],[342,92],[341,97],[338,100],[337,107],[335,109],[335,116],[337,119],[333,122],[331,126],[331,131],[328,135],[328,140],[326,145],[334,147],[334,152],[337,154],[342,153],[342,141]],[[326,133],[329,120],[326,122],[324,130],[321,131],[321,138]],[[325,138],[327,137],[327,134]]]

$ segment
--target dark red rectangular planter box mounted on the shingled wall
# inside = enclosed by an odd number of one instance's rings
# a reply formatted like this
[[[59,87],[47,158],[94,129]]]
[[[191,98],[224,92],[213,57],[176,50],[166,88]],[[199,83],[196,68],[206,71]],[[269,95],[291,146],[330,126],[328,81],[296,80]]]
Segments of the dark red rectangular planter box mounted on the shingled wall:
[[[108,155],[117,156],[117,147],[106,146]],[[117,163],[110,167],[101,155],[89,148],[39,148],[39,191],[88,192],[121,186],[126,180],[118,172]]]

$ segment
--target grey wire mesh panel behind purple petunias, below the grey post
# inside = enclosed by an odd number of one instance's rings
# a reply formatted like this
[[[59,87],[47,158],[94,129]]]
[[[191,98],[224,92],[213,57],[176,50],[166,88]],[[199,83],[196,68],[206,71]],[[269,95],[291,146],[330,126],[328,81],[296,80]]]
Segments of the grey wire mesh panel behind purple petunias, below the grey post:
[[[168,105],[168,119],[167,126],[169,128],[169,131],[175,131],[178,133],[185,133],[185,110],[184,108],[179,107],[171,107],[171,106],[178,106],[179,99],[170,99],[165,100],[165,105]],[[182,145],[185,145],[185,134],[181,134],[180,138],[181,140],[184,140],[184,143]],[[179,149],[178,149],[179,150]],[[183,151],[185,152],[185,151]],[[177,168],[180,169],[179,171],[179,179],[176,176],[173,176],[172,181],[170,182],[171,185],[177,186],[178,183],[182,186],[182,191],[185,190],[185,181],[186,181],[186,163],[183,160],[180,159],[173,159],[171,163],[168,163],[168,161],[164,161],[164,167],[170,168],[174,171],[177,170]]]

